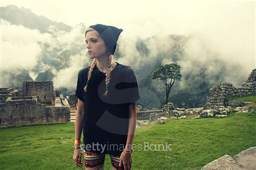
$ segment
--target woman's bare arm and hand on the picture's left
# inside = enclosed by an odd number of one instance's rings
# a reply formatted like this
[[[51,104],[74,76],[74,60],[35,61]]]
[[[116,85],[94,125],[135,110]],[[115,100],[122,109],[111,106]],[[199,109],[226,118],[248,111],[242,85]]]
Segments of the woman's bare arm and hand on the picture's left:
[[[76,112],[76,120],[75,120],[75,139],[81,138],[83,125],[84,125],[84,117],[85,117],[85,104],[79,98],[77,99],[77,112]],[[77,144],[74,144],[76,147]],[[83,166],[82,162],[82,153],[80,149],[74,149],[73,161],[75,161],[76,165],[79,167]]]

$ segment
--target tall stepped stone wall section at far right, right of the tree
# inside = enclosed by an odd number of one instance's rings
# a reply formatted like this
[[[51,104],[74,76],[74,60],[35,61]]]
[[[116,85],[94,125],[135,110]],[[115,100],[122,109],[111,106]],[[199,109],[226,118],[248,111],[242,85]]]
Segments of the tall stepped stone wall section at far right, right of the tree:
[[[234,87],[231,83],[220,83],[212,87],[204,108],[228,106],[226,97],[240,97],[250,94],[256,94],[256,69],[251,72],[241,87]]]

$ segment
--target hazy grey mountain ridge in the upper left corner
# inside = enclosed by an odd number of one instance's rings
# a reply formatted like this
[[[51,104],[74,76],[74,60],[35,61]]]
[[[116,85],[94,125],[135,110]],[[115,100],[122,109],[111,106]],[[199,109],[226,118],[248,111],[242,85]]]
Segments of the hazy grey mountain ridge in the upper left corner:
[[[30,9],[26,9],[23,6],[21,9],[15,5],[1,6],[0,18],[9,21],[11,24],[20,24],[29,29],[37,29],[41,33],[51,33],[48,30],[50,25],[56,26],[56,28],[62,31],[70,31],[72,29],[71,26],[62,22],[53,22],[44,16],[37,16]]]

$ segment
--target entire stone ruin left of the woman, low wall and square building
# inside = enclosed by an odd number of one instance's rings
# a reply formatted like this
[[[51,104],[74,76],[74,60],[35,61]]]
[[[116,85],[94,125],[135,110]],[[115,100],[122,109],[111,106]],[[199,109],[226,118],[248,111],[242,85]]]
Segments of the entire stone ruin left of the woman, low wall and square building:
[[[70,121],[70,106],[52,81],[23,81],[22,90],[0,88],[0,125]]]

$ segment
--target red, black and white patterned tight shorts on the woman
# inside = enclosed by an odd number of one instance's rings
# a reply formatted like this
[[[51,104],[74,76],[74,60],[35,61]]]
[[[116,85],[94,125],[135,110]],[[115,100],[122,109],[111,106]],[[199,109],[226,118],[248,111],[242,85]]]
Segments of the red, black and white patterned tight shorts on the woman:
[[[120,155],[110,155],[112,166],[116,169],[124,169],[124,165],[119,167]],[[84,162],[86,168],[99,169],[104,166],[105,153],[95,153],[92,151],[84,151]]]

